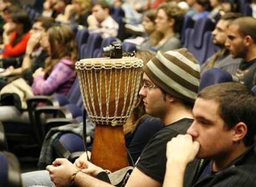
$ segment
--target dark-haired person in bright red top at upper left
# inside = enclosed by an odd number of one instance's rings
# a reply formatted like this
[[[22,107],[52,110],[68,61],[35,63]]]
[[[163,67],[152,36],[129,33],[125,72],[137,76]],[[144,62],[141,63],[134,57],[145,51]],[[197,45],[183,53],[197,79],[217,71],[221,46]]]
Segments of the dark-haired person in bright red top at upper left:
[[[2,58],[25,54],[27,42],[30,38],[29,31],[32,24],[25,10],[12,14],[11,23],[14,24],[15,29],[10,35],[9,43],[4,46]]]

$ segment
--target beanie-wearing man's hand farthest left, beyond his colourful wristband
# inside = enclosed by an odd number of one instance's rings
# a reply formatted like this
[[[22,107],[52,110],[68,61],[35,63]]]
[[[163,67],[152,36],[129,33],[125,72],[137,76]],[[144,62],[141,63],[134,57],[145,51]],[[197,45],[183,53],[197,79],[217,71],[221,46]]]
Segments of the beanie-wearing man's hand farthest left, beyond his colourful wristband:
[[[56,187],[64,187],[69,186],[70,177],[77,169],[67,159],[56,159],[53,165],[46,167],[46,170]]]

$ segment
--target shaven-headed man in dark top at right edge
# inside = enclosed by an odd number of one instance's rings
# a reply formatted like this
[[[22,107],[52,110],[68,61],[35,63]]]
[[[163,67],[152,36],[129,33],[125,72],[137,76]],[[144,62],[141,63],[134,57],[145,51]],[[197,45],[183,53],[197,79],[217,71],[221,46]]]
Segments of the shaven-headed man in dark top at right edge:
[[[225,46],[233,58],[242,58],[236,76],[252,88],[256,84],[256,19],[241,17],[231,22]]]

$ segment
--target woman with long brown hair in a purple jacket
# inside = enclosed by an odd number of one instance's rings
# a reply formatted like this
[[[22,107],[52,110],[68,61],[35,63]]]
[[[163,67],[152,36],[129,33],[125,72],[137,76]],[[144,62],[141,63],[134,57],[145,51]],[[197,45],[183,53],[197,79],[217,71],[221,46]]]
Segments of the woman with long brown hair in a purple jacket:
[[[77,60],[72,29],[67,25],[53,26],[41,36],[40,44],[48,50],[49,58],[45,68],[38,68],[33,74],[32,87],[26,85],[22,79],[17,79],[5,86],[1,95],[8,93],[17,82],[24,84],[22,88],[27,89],[22,91],[26,94],[32,92],[32,95],[50,95],[55,92],[66,95],[69,92],[75,79],[74,62]],[[20,98],[20,101],[23,100],[25,98]],[[28,113],[20,112],[15,106],[0,106],[0,121],[28,123]]]

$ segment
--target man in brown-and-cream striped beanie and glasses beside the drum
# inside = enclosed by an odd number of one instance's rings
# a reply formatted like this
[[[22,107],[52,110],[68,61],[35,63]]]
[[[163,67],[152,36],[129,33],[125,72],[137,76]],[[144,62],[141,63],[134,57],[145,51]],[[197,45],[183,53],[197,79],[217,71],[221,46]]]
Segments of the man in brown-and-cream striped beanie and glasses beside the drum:
[[[147,63],[144,70],[143,87],[139,94],[143,98],[146,112],[151,116],[160,117],[164,127],[143,149],[126,186],[163,185],[166,170],[166,143],[178,134],[186,134],[192,124],[192,107],[200,81],[198,62],[187,49],[171,50],[165,53],[160,51]],[[64,186],[62,184],[66,181],[58,181],[56,176],[61,175],[59,178],[71,176],[74,173],[74,165],[65,159],[59,159],[58,162],[59,167],[48,167],[48,170],[55,185]],[[192,165],[188,165],[187,171],[192,172],[192,169],[194,169]],[[93,178],[99,173],[105,173],[102,169],[88,162],[87,170],[90,170],[87,174],[76,173],[73,180],[75,186],[111,186]]]

